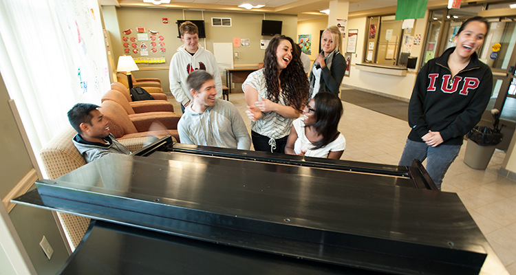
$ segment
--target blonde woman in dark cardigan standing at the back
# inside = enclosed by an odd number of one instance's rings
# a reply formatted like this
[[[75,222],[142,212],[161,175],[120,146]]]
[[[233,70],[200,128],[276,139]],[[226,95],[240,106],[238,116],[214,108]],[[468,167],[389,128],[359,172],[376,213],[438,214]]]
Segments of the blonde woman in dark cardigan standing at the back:
[[[321,36],[321,53],[310,71],[310,98],[321,91],[338,95],[344,73],[346,59],[341,54],[342,34],[336,26],[324,30]]]

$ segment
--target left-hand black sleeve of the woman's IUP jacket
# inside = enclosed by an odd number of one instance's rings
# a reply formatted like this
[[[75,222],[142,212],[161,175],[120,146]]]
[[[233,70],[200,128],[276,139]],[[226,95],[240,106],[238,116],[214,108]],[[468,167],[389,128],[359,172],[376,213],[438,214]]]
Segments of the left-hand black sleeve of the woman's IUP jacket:
[[[423,102],[427,94],[429,63],[424,65],[419,72],[409,101],[409,126],[418,133],[419,137],[428,133],[428,124],[424,119]]]

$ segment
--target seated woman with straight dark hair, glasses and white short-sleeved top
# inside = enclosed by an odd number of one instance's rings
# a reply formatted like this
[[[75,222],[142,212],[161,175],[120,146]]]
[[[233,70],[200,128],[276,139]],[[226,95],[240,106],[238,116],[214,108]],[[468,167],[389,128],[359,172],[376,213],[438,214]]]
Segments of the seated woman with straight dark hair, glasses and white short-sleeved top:
[[[303,116],[294,120],[285,153],[307,157],[340,159],[346,140],[338,132],[343,113],[338,96],[321,92],[306,104]]]

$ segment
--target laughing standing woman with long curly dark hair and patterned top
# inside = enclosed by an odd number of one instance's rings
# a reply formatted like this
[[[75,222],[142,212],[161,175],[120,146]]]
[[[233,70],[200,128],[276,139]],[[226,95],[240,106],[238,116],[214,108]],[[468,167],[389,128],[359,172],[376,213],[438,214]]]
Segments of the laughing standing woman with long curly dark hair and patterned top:
[[[251,120],[255,151],[284,153],[292,121],[308,100],[308,79],[299,47],[287,36],[275,36],[265,51],[264,68],[242,84]]]

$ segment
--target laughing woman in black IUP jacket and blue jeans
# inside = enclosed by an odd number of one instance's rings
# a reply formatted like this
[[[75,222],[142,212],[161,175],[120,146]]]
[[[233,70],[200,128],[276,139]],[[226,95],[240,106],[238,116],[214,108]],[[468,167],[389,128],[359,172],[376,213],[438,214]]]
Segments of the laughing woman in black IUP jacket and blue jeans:
[[[493,90],[493,74],[476,51],[486,37],[483,17],[462,23],[456,47],[429,61],[418,74],[409,102],[409,133],[398,165],[427,159],[427,171],[440,189],[464,135],[482,118]]]

